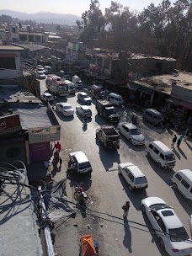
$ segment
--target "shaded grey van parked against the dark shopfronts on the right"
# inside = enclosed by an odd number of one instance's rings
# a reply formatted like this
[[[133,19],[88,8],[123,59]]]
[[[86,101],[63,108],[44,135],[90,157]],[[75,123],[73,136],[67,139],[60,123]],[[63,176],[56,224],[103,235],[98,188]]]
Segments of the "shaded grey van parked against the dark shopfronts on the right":
[[[163,123],[163,115],[155,109],[144,109],[143,120],[147,120],[152,125],[161,125]]]

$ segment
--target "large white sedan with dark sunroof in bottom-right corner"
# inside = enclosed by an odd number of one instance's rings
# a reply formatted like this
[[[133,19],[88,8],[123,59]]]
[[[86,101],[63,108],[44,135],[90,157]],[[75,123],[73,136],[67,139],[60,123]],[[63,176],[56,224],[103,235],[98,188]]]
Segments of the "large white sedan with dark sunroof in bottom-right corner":
[[[187,256],[192,253],[192,240],[173,208],[164,200],[147,197],[141,200],[141,211],[147,215],[161,247],[170,256]]]

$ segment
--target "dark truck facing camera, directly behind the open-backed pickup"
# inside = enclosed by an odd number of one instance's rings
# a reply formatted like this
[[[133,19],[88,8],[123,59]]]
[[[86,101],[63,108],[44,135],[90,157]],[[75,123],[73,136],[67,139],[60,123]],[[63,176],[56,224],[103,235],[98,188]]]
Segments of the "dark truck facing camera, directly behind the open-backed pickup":
[[[98,115],[103,115],[109,124],[119,123],[120,115],[117,114],[115,107],[108,100],[98,99],[96,109]]]

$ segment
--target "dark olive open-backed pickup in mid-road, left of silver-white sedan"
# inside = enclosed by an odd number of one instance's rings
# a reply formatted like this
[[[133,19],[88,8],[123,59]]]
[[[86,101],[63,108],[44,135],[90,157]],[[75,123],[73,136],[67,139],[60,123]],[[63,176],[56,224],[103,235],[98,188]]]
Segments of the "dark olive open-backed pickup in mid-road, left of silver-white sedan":
[[[120,148],[120,133],[113,125],[102,125],[96,130],[96,139],[101,141],[106,149]]]

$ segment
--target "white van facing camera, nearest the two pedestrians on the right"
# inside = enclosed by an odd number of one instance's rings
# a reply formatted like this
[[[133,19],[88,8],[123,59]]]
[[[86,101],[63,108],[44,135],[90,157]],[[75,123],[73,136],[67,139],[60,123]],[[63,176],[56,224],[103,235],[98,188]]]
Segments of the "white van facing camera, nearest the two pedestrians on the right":
[[[162,141],[152,141],[146,147],[147,156],[151,157],[161,168],[173,168],[176,160],[172,150]]]

